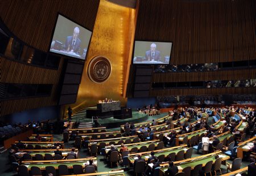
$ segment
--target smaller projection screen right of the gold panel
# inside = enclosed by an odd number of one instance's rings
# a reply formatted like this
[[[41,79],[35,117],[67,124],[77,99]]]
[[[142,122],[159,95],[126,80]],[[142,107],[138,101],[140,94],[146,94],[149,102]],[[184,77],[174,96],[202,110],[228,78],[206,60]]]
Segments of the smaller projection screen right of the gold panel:
[[[169,64],[172,42],[135,41],[133,64]]]

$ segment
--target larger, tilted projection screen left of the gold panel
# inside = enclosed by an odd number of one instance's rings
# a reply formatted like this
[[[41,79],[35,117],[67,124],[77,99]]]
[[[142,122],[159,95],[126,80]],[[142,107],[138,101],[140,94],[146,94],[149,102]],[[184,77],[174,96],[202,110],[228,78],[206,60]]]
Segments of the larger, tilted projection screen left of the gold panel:
[[[91,31],[59,14],[49,51],[84,60],[91,36]]]

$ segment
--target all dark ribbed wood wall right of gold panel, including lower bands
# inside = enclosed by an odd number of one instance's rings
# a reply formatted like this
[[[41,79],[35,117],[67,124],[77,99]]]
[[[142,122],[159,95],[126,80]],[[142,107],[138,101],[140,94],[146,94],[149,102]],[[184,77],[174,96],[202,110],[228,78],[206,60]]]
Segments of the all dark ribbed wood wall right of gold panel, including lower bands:
[[[170,64],[175,65],[251,60],[256,58],[255,16],[255,0],[140,0],[135,40],[173,42]],[[154,73],[151,82],[243,80],[255,75],[255,68]],[[238,93],[255,93],[255,88],[151,89],[150,96]],[[133,89],[127,89],[127,96],[133,96]]]

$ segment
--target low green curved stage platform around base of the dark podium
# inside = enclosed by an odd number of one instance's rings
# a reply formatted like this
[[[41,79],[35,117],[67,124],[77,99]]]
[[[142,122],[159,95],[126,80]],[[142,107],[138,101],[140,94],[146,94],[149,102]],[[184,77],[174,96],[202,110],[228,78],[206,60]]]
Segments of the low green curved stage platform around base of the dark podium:
[[[137,110],[132,110],[132,118],[127,119],[115,119],[113,117],[98,119],[98,122],[101,126],[106,128],[117,128],[120,125],[124,125],[126,122],[140,123],[146,121],[152,121],[152,119],[162,118],[168,115],[168,113],[161,113],[159,115],[148,116],[147,114],[139,113]],[[81,118],[81,119],[72,119],[73,122],[92,122],[92,119],[89,118]]]

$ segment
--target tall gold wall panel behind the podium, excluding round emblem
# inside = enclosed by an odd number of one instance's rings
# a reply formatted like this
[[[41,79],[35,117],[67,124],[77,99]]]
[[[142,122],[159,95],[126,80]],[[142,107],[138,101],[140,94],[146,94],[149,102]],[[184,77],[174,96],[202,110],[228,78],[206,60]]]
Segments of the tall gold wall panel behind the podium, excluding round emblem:
[[[84,65],[75,109],[96,105],[98,100],[112,98],[126,104],[123,98],[130,48],[135,30],[135,10],[100,1],[88,56]],[[110,78],[104,83],[94,83],[88,76],[88,65],[97,55],[109,59],[112,65]],[[75,110],[76,111],[76,110]]]

